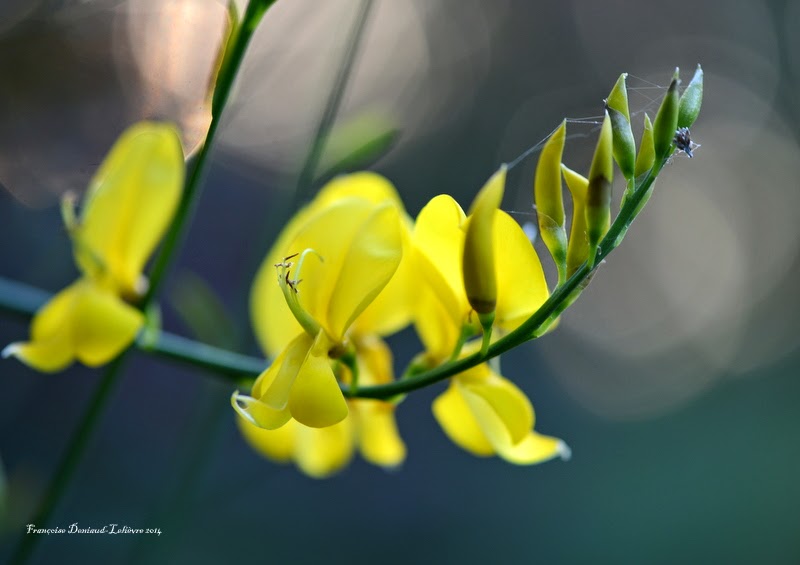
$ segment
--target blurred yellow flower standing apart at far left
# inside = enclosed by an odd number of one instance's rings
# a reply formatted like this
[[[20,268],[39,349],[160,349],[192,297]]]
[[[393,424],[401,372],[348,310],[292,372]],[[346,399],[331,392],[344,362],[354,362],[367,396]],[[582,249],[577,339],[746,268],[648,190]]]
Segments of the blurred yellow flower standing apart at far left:
[[[142,122],[122,134],[92,179],[79,218],[66,202],[81,278],[36,313],[30,341],[7,346],[4,357],[55,372],[75,359],[102,365],[130,345],[144,317],[126,300],[147,290],[142,270],[172,219],[183,175],[172,126]]]

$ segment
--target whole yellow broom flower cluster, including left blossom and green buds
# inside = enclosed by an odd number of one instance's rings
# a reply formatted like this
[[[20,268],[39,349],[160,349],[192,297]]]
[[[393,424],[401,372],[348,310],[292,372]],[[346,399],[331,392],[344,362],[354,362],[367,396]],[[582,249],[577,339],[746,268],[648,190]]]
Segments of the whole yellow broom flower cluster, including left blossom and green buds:
[[[532,402],[501,374],[498,356],[556,327],[675,150],[691,156],[688,127],[702,78],[698,67],[681,95],[676,71],[655,120],[644,116],[637,150],[621,75],[587,176],[563,163],[566,121],[546,142],[532,181],[542,241],[558,273],[553,285],[526,233],[502,210],[505,165],[468,214],[438,195],[414,220],[380,175],[330,181],[289,220],[253,282],[252,323],[272,363],[231,396],[245,440],[316,478],[336,473],[357,451],[396,468],[407,452],[395,419],[405,393],[449,380],[432,411],[457,446],[519,465],[568,458],[563,440],[535,429]],[[615,163],[625,193],[612,221]],[[144,324],[137,308],[147,290],[143,269],[182,184],[183,155],[170,126],[145,122],[123,134],[80,216],[71,203],[64,207],[81,277],[37,313],[31,339],[4,354],[57,371],[75,359],[101,365],[128,347]],[[408,326],[421,352],[395,379],[385,340]]]

